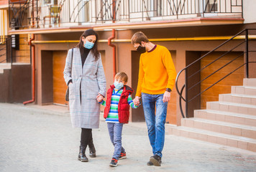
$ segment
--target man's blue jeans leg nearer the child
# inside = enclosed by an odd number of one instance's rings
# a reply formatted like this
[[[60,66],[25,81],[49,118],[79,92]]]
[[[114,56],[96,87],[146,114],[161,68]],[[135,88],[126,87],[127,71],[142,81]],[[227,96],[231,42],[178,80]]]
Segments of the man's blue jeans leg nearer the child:
[[[142,104],[152,153],[155,153],[155,100],[153,95],[142,92]]]

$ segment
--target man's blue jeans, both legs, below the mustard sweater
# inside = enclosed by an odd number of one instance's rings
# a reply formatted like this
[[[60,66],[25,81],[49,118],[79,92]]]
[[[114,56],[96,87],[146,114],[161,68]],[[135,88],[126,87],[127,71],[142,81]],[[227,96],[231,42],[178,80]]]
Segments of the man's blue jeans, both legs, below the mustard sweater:
[[[163,102],[163,94],[149,95],[142,92],[142,104],[152,152],[162,157],[168,102]]]

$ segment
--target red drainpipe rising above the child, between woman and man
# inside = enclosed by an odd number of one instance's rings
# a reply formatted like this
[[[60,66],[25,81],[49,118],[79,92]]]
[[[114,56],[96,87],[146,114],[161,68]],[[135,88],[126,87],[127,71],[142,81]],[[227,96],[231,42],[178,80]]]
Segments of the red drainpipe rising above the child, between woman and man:
[[[112,23],[116,22],[116,1],[112,1]],[[116,30],[112,29],[112,36],[108,39],[108,45],[113,47],[113,75],[116,75],[116,46],[114,44],[111,44],[111,39],[114,39],[116,37]],[[113,77],[114,78],[114,77]]]

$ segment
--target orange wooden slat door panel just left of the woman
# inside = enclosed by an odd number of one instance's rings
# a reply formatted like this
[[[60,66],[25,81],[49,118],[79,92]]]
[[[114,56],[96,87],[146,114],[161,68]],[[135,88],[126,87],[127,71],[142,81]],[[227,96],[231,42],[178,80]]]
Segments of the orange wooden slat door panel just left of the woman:
[[[66,55],[66,51],[56,51],[52,53],[53,102],[63,105],[68,103],[65,101],[65,90],[67,86],[63,78]]]

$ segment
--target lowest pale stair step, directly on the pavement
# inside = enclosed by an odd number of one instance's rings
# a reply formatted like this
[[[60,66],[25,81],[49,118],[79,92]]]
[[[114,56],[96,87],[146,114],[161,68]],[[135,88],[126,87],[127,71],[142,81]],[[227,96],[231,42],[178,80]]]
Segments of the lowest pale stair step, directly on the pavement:
[[[183,126],[170,127],[168,128],[168,130],[173,135],[203,140],[210,143],[217,143],[220,145],[227,145],[235,148],[242,148],[248,151],[256,152],[256,140],[253,138],[244,138],[237,135],[228,135],[223,133],[212,132],[209,130],[187,128]]]

